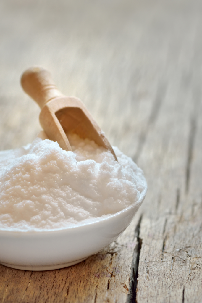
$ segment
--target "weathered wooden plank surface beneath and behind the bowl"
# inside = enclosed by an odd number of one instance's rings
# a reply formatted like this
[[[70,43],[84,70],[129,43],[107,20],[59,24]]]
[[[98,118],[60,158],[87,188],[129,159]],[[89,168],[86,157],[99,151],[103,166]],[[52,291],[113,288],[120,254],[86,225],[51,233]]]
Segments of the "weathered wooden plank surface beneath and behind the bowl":
[[[1,150],[41,130],[19,79],[42,65],[148,182],[97,255],[52,271],[1,265],[0,302],[202,302],[201,0],[2,0],[0,24]]]

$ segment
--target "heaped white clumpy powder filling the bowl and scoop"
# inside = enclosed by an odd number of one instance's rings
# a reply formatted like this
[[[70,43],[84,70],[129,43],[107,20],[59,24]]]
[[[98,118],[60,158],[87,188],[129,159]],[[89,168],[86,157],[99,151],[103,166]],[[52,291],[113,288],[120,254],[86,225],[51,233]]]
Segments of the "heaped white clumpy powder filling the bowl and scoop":
[[[117,147],[68,136],[72,151],[36,138],[0,151],[0,229],[50,230],[114,214],[147,189],[143,172]]]

